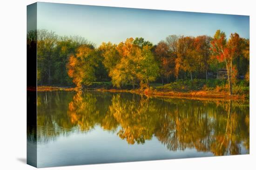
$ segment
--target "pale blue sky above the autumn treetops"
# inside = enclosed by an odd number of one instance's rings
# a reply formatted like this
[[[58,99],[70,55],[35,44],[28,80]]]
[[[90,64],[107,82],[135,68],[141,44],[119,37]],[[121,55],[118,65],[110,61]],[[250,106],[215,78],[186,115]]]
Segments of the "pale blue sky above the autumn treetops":
[[[249,38],[249,16],[39,2],[37,28],[79,35],[96,46],[130,37],[157,44],[172,34],[214,36],[218,29]]]

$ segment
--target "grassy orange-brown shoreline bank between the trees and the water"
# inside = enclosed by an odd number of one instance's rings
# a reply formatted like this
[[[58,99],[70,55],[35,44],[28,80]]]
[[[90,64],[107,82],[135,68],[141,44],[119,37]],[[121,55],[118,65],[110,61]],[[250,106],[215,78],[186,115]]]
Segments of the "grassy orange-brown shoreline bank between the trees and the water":
[[[228,87],[222,80],[222,86],[216,85],[216,80],[208,80],[211,83],[203,83],[203,80],[195,80],[193,84],[189,81],[179,81],[169,84],[151,84],[151,88],[148,90],[142,88],[129,88],[121,89],[115,88],[111,82],[94,82],[91,85],[79,88],[79,87],[57,87],[57,86],[38,86],[37,91],[100,91],[100,92],[112,92],[112,93],[134,93],[145,95],[149,97],[171,97],[171,98],[183,98],[183,99],[198,99],[198,100],[249,100],[249,88],[244,85],[244,82],[240,82],[240,86],[234,87],[236,92],[229,95]],[[217,84],[221,84],[217,82]]]

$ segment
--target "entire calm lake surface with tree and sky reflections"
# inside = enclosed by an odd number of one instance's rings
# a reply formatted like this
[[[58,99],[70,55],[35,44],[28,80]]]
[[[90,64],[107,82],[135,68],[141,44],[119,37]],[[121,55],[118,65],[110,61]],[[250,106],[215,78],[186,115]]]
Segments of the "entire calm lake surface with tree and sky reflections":
[[[244,102],[38,92],[37,120],[38,167],[249,153]]]

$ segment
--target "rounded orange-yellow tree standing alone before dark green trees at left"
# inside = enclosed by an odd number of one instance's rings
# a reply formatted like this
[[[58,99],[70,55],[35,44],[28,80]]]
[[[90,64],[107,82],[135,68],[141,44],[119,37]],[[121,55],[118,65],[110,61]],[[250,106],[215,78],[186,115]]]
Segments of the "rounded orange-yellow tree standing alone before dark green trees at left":
[[[76,86],[89,85],[96,80],[96,68],[99,66],[97,52],[92,45],[83,44],[69,57],[67,63],[68,76]]]

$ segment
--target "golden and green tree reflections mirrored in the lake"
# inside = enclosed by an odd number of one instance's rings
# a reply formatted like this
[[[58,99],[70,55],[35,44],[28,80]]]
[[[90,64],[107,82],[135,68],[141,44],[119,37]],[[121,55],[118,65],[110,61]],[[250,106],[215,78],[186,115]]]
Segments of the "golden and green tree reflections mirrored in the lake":
[[[249,153],[249,104],[148,98],[128,93],[38,93],[39,143],[101,126],[128,145],[157,138],[170,151]]]

